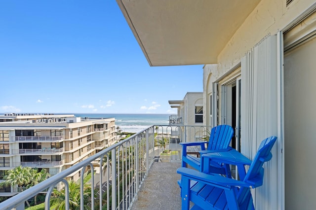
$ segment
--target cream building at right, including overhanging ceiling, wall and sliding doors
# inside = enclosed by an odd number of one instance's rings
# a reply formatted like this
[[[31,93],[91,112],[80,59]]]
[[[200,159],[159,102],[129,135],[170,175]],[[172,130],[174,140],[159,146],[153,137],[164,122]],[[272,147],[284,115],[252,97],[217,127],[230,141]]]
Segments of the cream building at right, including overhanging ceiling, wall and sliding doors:
[[[315,209],[316,1],[117,2],[150,66],[205,64],[203,123],[249,158],[277,136],[256,209]]]

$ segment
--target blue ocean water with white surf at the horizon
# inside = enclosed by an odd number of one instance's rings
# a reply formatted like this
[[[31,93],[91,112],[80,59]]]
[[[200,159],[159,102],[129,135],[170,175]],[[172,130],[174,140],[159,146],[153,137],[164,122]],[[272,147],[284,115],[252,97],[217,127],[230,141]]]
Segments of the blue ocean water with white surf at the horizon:
[[[168,125],[169,114],[75,114],[77,117],[115,118],[122,132],[137,133],[152,125]]]

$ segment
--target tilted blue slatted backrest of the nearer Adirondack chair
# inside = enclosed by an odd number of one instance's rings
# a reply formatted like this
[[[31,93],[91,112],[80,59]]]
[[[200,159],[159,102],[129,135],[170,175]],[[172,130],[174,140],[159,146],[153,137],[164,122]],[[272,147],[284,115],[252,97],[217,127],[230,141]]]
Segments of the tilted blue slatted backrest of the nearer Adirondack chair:
[[[276,137],[272,136],[263,140],[258,151],[253,158],[250,168],[243,181],[249,183],[252,187],[261,186],[263,182],[264,169],[263,164],[272,158],[271,149],[276,142]]]

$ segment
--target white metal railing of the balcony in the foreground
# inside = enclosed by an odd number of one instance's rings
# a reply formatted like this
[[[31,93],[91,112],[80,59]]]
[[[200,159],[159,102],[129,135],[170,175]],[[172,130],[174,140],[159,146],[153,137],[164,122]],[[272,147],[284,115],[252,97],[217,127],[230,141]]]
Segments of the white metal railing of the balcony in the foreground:
[[[87,169],[91,172],[91,194],[94,195],[88,204],[91,209],[130,209],[152,163],[157,159],[161,162],[180,162],[179,142],[200,140],[199,137],[205,136],[209,130],[210,128],[205,126],[151,126],[2,202],[1,210],[24,210],[25,201],[43,191],[47,191],[45,210],[49,210],[53,189],[61,183],[66,188],[65,204],[66,210],[69,210],[69,188],[66,178],[69,180],[78,172],[81,174],[80,209],[83,209],[82,183],[83,174]],[[27,166],[26,163],[23,164]],[[95,171],[96,173],[92,173]]]

